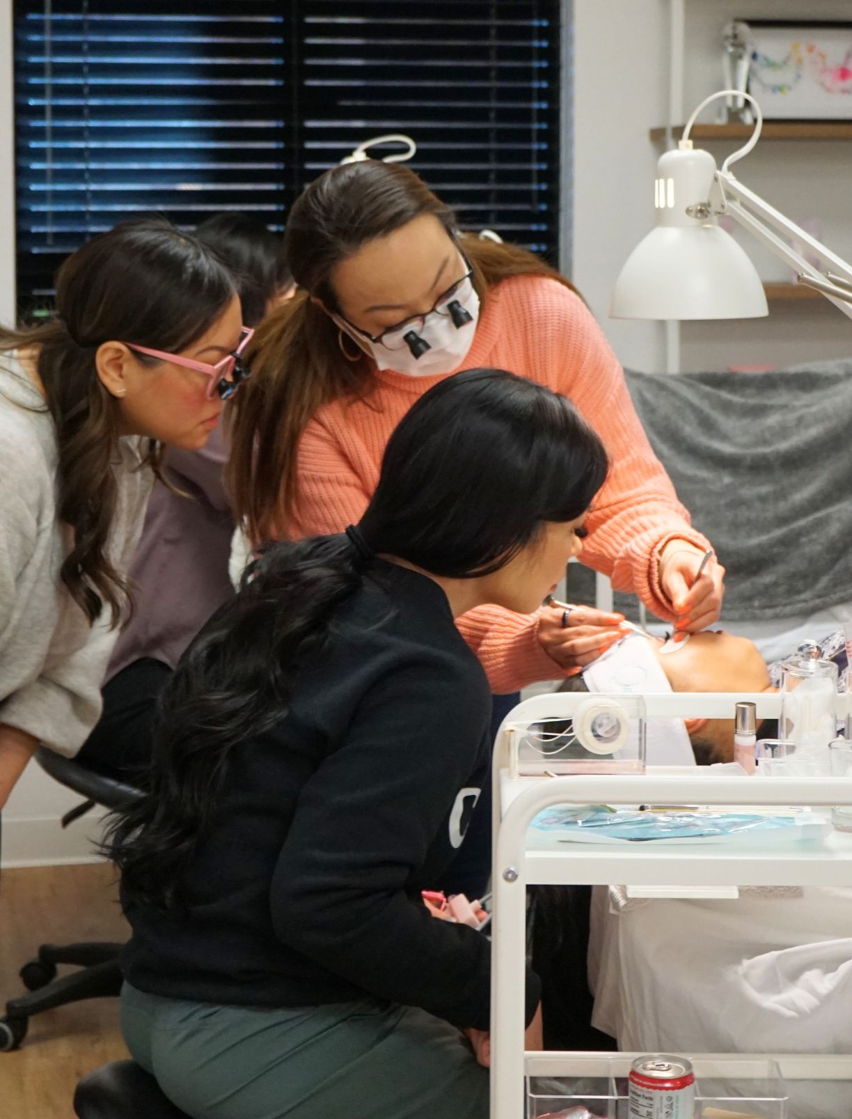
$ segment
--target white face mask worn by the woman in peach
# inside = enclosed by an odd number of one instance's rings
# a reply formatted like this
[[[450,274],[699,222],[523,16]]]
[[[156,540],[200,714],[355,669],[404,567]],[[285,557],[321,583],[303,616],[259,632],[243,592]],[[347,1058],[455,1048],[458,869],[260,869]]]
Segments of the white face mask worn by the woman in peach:
[[[454,301],[471,317],[470,322],[456,327],[448,305]],[[441,308],[445,308],[442,310]],[[379,369],[394,369],[409,377],[432,377],[441,373],[452,373],[467,357],[476,333],[480,318],[480,297],[468,279],[462,281],[458,290],[418,320],[404,323],[400,328],[386,330],[385,341],[373,341],[360,333],[337,314],[331,318],[350,338],[358,342],[373,359]],[[415,357],[405,336],[414,331],[418,339],[428,342],[429,348]],[[388,345],[389,344],[389,345]]]

